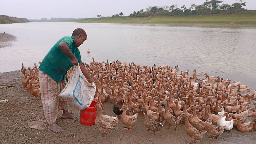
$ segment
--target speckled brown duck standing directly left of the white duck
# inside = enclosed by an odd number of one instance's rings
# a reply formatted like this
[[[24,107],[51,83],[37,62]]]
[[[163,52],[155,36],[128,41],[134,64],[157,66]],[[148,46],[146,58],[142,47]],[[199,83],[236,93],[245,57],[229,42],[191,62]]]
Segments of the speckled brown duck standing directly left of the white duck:
[[[224,129],[226,126],[216,126],[216,125],[212,125],[212,118],[209,117],[206,121],[205,121],[205,130],[208,133],[211,133],[212,135],[214,135],[214,137],[209,138],[210,140],[212,140],[213,138],[215,138],[216,136],[219,136],[223,133]]]

